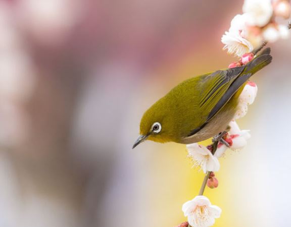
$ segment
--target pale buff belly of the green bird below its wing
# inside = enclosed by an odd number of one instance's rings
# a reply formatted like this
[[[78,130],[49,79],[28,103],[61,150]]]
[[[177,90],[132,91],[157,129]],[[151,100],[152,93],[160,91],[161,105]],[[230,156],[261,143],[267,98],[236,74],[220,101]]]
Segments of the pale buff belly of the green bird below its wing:
[[[229,122],[233,120],[235,115],[237,103],[233,102],[237,102],[237,100],[234,98],[230,99],[229,102],[207,123],[204,128],[192,136],[181,138],[180,143],[189,144],[201,142],[219,134],[220,132],[223,132],[227,128]]]

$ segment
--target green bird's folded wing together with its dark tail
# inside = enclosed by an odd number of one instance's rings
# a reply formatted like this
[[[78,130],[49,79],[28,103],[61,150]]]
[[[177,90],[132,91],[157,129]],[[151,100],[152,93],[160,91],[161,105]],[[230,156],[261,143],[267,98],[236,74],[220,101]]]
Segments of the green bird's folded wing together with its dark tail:
[[[200,131],[254,73],[271,63],[270,51],[270,48],[265,48],[245,66],[219,70],[202,77],[200,107],[208,115],[205,122],[193,129],[188,136]]]

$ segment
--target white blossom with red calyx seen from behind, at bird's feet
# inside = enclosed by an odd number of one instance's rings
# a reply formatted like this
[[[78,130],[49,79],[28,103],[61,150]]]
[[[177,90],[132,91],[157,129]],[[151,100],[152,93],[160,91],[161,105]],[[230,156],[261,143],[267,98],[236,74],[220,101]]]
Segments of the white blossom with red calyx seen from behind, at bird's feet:
[[[243,149],[247,145],[247,140],[251,138],[249,130],[240,130],[235,121],[231,121],[229,126],[230,131],[226,134],[224,140],[229,144],[229,148],[232,150]],[[214,156],[217,158],[221,157],[227,148],[225,144],[219,142]]]

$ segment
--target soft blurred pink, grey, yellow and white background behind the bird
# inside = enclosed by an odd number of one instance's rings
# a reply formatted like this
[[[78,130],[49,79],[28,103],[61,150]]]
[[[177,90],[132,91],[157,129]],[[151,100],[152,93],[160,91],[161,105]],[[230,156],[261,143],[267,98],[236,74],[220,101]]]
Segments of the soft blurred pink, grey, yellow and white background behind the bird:
[[[185,145],[132,150],[142,113],[178,82],[226,68],[231,0],[1,0],[0,226],[156,227],[186,218],[203,173]],[[229,151],[205,195],[215,226],[289,226],[290,40],[253,80]]]

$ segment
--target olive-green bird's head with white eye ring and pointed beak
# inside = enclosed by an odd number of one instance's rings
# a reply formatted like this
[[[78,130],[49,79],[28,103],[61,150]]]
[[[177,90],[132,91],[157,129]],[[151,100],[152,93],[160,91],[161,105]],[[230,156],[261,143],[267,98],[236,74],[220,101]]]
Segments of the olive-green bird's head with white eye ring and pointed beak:
[[[140,121],[139,137],[132,148],[145,140],[152,140],[159,143],[173,141],[172,139],[172,122],[168,121],[170,115],[167,113],[165,106],[155,103],[142,116]]]

